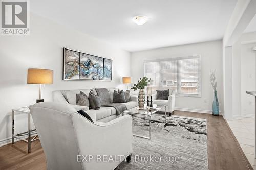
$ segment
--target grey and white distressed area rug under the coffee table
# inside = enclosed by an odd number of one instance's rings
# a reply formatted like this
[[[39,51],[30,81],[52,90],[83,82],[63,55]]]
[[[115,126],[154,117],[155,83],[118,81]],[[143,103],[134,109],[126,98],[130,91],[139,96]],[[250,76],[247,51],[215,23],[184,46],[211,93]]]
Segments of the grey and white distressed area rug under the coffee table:
[[[152,119],[151,140],[134,136],[132,160],[121,162],[117,170],[208,169],[206,119],[167,116],[166,124],[164,116],[152,116]],[[133,116],[133,133],[148,136],[148,120]],[[153,161],[147,160],[150,156]]]

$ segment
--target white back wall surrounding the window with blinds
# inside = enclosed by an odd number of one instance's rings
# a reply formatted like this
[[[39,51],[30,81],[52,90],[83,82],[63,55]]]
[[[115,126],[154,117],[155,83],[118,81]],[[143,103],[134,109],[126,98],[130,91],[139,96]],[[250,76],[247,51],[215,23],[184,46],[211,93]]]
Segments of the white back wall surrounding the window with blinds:
[[[133,52],[131,65],[133,81],[136,82],[140,77],[143,77],[144,60],[184,57],[194,54],[201,54],[202,96],[201,98],[177,96],[176,109],[210,113],[212,110],[213,90],[209,81],[209,72],[210,70],[216,70],[220,111],[223,111],[221,40]]]

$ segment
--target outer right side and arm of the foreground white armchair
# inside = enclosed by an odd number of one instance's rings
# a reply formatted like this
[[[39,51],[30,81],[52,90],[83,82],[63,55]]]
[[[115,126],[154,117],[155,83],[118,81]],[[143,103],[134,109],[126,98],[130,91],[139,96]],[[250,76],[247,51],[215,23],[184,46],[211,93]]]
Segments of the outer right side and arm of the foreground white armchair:
[[[132,116],[116,118],[105,123],[104,126],[82,119],[79,114],[72,114],[72,119],[80,155],[124,155],[126,157],[132,154]],[[114,169],[119,163],[108,164],[97,162],[96,159],[92,159],[89,163],[82,162],[84,169]]]

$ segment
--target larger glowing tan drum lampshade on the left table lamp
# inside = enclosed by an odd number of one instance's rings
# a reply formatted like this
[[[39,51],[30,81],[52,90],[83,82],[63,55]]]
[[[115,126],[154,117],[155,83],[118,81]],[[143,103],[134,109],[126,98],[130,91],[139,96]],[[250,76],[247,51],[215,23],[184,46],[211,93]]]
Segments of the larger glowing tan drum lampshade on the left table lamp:
[[[50,69],[28,69],[28,84],[53,84],[53,70]]]

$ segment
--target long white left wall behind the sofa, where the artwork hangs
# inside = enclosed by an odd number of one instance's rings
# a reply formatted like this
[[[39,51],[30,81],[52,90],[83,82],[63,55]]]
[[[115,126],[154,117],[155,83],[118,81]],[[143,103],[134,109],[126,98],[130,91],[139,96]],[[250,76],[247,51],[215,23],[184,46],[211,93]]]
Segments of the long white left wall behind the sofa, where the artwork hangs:
[[[131,74],[129,52],[39,16],[31,14],[30,23],[29,36],[0,37],[0,145],[11,137],[11,109],[31,105],[38,98],[38,85],[26,84],[28,68],[54,70],[54,84],[43,89],[46,101],[52,100],[53,90],[122,88],[121,77]],[[112,59],[113,80],[63,81],[63,47]],[[25,116],[17,116],[16,124],[17,132],[25,131]]]

